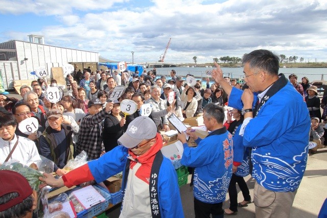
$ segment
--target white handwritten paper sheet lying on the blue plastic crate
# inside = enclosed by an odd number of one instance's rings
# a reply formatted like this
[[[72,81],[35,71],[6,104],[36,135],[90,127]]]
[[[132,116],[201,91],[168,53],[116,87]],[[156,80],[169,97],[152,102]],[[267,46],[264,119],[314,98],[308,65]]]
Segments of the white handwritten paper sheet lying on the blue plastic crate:
[[[105,198],[91,185],[73,191],[72,193],[85,209],[105,201]]]

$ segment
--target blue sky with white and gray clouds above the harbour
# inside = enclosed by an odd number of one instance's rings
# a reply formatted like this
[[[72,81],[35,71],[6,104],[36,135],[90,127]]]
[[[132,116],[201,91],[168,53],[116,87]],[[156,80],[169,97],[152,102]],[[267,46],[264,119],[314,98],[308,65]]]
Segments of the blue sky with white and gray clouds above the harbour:
[[[264,48],[327,62],[325,0],[0,0],[0,42],[46,45],[134,62],[212,62]]]

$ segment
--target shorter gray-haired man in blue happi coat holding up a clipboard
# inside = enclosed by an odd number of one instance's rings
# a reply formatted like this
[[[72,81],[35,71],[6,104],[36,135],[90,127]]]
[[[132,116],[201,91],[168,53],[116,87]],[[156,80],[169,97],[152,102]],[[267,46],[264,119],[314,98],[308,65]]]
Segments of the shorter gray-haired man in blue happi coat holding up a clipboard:
[[[225,114],[221,106],[208,103],[203,109],[203,123],[210,131],[204,139],[197,137],[192,128],[186,130],[197,144],[189,147],[185,134],[178,134],[184,151],[181,164],[195,167],[194,211],[195,217],[224,217],[222,209],[232,175],[232,135],[223,122]]]

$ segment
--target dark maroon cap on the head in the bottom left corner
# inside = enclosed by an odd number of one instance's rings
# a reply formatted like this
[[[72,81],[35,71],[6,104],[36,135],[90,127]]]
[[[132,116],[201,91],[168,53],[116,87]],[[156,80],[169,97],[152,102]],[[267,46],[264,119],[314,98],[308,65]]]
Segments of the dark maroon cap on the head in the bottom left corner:
[[[0,170],[0,197],[17,192],[18,197],[5,204],[0,204],[0,211],[5,211],[30,197],[33,190],[25,177],[11,170]]]

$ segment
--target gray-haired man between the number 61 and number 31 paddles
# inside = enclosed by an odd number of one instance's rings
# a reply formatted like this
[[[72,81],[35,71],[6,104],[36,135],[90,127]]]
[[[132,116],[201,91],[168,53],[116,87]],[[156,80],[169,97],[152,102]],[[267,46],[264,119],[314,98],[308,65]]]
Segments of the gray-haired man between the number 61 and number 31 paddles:
[[[27,92],[24,95],[24,102],[30,105],[32,116],[38,119],[40,125],[45,126],[45,110],[44,107],[39,104],[39,101],[35,92]]]

